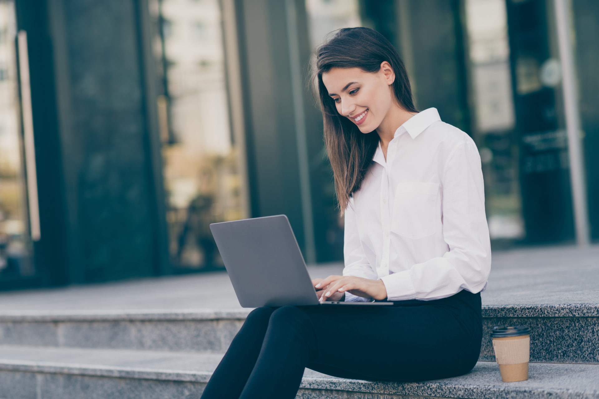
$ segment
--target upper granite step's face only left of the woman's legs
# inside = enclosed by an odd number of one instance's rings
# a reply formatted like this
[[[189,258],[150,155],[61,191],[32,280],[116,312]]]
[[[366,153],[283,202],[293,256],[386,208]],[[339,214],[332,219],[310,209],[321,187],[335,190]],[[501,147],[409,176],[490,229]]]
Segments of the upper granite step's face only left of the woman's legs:
[[[0,345],[223,354],[251,310],[4,313]]]

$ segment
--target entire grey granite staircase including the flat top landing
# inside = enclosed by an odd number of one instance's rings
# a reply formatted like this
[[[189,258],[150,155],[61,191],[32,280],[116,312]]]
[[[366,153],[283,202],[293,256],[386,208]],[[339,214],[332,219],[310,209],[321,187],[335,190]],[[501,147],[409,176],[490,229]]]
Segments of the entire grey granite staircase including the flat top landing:
[[[297,397],[599,399],[598,260],[597,246],[496,255],[479,361],[463,376],[395,383],[306,369]],[[181,306],[193,302],[204,307]],[[224,273],[0,294],[0,399],[199,398],[252,310],[235,302]],[[531,327],[528,380],[501,380],[495,325]]]

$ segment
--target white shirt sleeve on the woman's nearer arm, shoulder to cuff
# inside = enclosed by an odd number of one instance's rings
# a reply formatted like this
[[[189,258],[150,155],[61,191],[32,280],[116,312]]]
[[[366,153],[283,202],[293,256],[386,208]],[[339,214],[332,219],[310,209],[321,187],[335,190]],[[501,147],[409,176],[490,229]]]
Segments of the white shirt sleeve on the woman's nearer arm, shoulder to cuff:
[[[491,240],[485,215],[480,155],[467,137],[447,157],[443,186],[443,237],[449,251],[382,277],[388,300],[433,300],[464,288],[478,293],[491,273]]]

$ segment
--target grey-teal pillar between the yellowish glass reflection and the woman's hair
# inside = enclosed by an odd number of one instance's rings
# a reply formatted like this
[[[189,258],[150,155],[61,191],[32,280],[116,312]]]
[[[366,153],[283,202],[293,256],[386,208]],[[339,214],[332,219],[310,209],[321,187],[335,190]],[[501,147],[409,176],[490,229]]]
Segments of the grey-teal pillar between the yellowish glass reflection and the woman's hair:
[[[296,12],[299,5],[303,6],[300,1],[293,4]],[[299,247],[305,251],[295,119],[298,114],[292,97],[292,79],[297,77],[292,76],[290,64],[288,5],[281,0],[235,3],[252,217],[287,215]],[[305,46],[307,30],[298,25],[297,33]],[[307,65],[304,50],[300,50],[299,57],[301,65]]]

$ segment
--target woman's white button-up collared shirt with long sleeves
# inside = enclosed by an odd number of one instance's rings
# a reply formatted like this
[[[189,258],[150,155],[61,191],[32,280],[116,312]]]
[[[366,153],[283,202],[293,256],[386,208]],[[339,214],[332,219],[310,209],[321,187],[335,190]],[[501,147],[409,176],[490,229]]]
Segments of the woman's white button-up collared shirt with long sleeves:
[[[381,279],[388,300],[484,291],[491,241],[479,151],[428,108],[401,125],[345,211],[344,276]],[[346,301],[371,301],[346,293]]]

